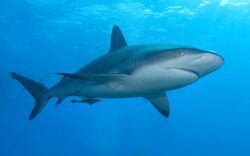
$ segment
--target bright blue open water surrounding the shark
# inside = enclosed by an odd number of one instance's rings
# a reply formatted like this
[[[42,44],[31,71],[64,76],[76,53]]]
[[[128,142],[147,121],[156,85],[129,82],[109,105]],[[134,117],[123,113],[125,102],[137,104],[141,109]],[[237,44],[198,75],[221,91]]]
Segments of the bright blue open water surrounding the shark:
[[[1,156],[249,156],[248,0],[1,0]],[[168,93],[162,117],[141,98],[89,106],[33,99],[15,71],[47,86],[109,48],[113,24],[129,44],[175,43],[213,50],[225,64]]]

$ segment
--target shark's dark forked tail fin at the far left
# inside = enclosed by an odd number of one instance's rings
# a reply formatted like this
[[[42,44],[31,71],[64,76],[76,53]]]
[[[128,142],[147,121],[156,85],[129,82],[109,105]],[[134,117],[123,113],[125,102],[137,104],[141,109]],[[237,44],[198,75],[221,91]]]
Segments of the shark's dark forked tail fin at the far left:
[[[23,77],[17,73],[11,72],[10,75],[21,83],[35,99],[35,106],[29,117],[29,120],[32,120],[43,110],[49,101],[50,97],[45,95],[47,88],[41,83]]]

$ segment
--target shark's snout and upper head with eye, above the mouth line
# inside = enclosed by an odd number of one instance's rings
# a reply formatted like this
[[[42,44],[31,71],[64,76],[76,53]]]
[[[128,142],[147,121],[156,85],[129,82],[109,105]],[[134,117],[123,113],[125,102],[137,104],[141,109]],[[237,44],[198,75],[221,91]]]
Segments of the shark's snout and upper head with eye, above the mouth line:
[[[199,78],[215,71],[224,63],[220,55],[194,48],[173,49],[162,52],[161,57],[166,68],[193,72]]]

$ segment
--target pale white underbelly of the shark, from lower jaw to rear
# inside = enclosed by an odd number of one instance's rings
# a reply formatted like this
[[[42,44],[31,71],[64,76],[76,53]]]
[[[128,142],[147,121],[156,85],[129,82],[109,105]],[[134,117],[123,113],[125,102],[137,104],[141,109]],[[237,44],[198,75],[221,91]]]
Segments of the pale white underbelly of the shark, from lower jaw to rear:
[[[197,75],[190,71],[150,66],[119,81],[86,85],[79,94],[97,98],[137,97],[180,88],[197,79]]]

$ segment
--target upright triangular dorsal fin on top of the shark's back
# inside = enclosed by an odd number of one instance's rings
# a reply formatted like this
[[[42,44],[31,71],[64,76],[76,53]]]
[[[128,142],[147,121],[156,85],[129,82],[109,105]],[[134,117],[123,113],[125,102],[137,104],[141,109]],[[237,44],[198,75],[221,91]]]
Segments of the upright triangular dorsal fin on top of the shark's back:
[[[121,32],[121,29],[114,25],[111,34],[110,49],[109,52],[113,52],[117,49],[127,46],[127,42]]]

